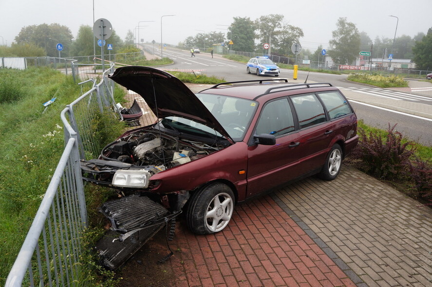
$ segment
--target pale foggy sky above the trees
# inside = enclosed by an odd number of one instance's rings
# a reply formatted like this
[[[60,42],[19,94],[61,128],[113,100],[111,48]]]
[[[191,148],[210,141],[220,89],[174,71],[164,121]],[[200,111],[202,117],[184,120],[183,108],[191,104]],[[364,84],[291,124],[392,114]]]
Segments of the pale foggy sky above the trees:
[[[140,38],[160,42],[161,16],[175,15],[162,18],[162,36],[164,43],[176,45],[198,33],[226,33],[233,17],[282,14],[287,24],[303,30],[302,48],[314,52],[319,45],[328,49],[339,17],[372,40],[393,39],[397,19],[389,15],[399,18],[396,37],[413,37],[432,27],[431,12],[432,0],[0,0],[0,44],[10,46],[21,28],[42,23],[67,26],[76,37],[80,25],[93,27],[99,18],[108,19],[123,40],[128,30],[137,36],[139,24],[147,26],[139,30]]]

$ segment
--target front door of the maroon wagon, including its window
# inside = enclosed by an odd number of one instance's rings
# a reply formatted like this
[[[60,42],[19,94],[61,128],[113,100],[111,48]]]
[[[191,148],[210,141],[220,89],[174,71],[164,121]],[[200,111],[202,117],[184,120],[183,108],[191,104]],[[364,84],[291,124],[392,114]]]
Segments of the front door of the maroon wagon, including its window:
[[[296,168],[299,132],[296,131],[291,106],[287,98],[267,103],[255,126],[256,134],[273,134],[275,145],[251,144],[248,147],[247,193],[252,197],[265,190],[297,178],[302,171]]]

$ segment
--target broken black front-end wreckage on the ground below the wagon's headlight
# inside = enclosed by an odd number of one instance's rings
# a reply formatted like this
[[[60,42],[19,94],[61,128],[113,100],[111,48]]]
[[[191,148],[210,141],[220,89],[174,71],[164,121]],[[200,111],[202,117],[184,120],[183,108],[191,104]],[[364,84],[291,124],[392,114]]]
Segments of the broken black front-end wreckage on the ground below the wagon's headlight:
[[[171,214],[148,197],[131,195],[105,202],[101,212],[112,228],[96,244],[102,264],[111,270],[121,267],[154,234],[180,212]]]

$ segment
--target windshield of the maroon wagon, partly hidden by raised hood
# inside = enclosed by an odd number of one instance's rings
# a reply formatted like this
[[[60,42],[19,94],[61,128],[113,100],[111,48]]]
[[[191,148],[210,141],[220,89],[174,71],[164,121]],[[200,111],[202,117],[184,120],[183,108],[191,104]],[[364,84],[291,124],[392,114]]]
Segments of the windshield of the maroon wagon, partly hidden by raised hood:
[[[242,141],[258,103],[215,94],[196,94],[198,99],[236,142]]]

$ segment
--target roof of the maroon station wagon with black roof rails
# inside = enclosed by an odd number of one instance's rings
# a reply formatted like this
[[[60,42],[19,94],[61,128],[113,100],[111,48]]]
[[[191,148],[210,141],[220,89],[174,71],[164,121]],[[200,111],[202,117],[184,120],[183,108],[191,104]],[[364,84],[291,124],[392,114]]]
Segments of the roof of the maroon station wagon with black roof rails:
[[[313,93],[324,90],[339,89],[330,83],[294,84],[289,83],[287,79],[274,79],[221,83],[209,89],[202,90],[200,93],[233,96],[261,102],[281,96]]]

